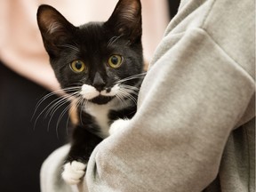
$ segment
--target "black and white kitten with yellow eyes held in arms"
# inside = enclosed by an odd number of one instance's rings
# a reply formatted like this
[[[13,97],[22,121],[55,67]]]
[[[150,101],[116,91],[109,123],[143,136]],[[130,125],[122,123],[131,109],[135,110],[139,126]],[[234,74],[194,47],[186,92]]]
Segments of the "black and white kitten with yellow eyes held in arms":
[[[122,119],[136,113],[145,75],[141,4],[140,0],[119,0],[108,21],[80,27],[52,6],[41,5],[37,22],[60,86],[75,100],[78,111],[62,172],[66,182],[76,184],[84,176],[93,148],[125,124]]]

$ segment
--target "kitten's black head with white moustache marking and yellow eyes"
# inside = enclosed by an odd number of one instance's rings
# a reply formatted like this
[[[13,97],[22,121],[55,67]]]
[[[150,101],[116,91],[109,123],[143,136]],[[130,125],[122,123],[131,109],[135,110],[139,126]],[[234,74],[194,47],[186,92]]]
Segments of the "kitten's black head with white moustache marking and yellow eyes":
[[[143,70],[140,0],[119,0],[106,22],[80,27],[41,5],[37,22],[63,90],[97,104],[135,91],[140,78],[131,76]]]

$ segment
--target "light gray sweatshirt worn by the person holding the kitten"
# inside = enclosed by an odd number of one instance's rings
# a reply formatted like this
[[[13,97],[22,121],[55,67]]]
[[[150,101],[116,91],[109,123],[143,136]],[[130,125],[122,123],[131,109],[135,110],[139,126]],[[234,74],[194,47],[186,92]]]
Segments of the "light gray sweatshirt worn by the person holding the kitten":
[[[81,191],[255,191],[255,4],[183,0],[156,49],[129,125],[103,140]],[[69,146],[46,159],[43,192]]]

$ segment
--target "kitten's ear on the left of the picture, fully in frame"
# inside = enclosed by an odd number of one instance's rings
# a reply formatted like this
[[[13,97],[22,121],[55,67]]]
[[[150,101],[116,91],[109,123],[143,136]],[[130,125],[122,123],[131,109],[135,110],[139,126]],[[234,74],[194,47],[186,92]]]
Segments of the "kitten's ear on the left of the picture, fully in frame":
[[[50,5],[40,5],[37,10],[37,24],[41,31],[44,47],[51,58],[58,56],[60,47],[67,44],[76,31],[64,16]]]

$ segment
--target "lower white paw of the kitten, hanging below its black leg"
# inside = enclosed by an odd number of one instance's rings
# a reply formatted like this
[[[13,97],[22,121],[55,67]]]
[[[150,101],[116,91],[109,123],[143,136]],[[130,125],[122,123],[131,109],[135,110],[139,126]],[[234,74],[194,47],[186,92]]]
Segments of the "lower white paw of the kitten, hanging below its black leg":
[[[62,172],[62,179],[69,185],[78,184],[84,176],[86,164],[73,161],[64,164],[64,171]]]

